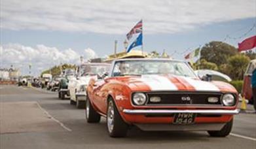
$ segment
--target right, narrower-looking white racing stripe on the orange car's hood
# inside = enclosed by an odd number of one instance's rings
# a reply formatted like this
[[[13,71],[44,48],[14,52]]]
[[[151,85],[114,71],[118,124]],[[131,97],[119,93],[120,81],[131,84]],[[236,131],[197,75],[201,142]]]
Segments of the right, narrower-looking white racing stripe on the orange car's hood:
[[[194,80],[193,78],[183,77],[191,86],[193,86],[196,90],[199,91],[219,91],[217,86],[211,84],[210,82],[202,81],[202,80]]]

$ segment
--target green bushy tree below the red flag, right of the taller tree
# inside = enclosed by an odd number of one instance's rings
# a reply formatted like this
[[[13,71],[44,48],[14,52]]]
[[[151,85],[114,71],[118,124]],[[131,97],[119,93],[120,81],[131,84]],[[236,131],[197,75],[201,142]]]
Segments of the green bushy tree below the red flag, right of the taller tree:
[[[227,65],[221,65],[221,71],[233,80],[242,80],[250,59],[244,54],[237,54],[228,59]]]

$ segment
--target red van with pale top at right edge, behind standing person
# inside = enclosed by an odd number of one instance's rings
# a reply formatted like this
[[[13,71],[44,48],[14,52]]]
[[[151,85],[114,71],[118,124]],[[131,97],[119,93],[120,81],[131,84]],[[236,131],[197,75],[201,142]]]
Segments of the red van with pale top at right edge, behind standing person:
[[[253,104],[253,93],[251,89],[251,75],[256,66],[256,59],[249,62],[246,73],[244,74],[244,84],[242,88],[242,96],[245,97],[249,103]]]

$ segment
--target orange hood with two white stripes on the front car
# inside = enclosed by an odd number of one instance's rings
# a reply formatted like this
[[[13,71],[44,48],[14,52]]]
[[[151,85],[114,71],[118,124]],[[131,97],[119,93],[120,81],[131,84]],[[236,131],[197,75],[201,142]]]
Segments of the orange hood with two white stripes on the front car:
[[[225,82],[206,82],[198,78],[175,75],[147,74],[119,77],[122,83],[134,91],[215,91],[234,92],[236,89]]]

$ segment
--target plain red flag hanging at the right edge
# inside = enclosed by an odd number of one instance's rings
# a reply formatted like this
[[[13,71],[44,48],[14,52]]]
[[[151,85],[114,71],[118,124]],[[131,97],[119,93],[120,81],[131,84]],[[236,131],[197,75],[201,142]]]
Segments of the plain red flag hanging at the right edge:
[[[245,39],[241,43],[238,43],[238,52],[251,50],[252,48],[255,48],[255,47],[256,47],[256,35]]]

